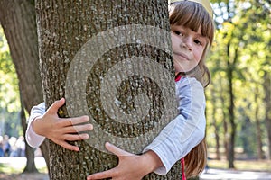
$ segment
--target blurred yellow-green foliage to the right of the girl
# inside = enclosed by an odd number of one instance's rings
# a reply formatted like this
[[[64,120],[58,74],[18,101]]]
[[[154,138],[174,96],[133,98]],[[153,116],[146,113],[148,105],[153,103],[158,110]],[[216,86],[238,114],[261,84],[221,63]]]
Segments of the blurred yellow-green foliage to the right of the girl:
[[[235,147],[242,148],[248,157],[257,157],[257,133],[261,133],[262,148],[266,149],[267,146],[265,112],[269,110],[264,106],[263,76],[271,73],[270,1],[211,2],[217,31],[207,60],[212,76],[212,83],[206,89],[207,139],[210,147],[216,146],[214,125],[219,130],[220,147],[223,140],[229,138],[223,129],[223,121],[228,121],[229,115],[226,110],[229,106],[226,71],[231,68],[237,126]],[[260,132],[256,129],[257,119],[260,121]]]

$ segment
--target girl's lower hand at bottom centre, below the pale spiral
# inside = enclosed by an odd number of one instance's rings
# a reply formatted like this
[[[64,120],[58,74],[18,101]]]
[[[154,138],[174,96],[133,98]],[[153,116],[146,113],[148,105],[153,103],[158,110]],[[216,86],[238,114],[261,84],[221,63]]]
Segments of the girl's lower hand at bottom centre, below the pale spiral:
[[[87,180],[109,177],[113,180],[140,180],[157,167],[163,166],[160,158],[153,151],[147,151],[139,156],[117,148],[108,142],[106,148],[118,157],[118,165],[107,171],[89,175]]]

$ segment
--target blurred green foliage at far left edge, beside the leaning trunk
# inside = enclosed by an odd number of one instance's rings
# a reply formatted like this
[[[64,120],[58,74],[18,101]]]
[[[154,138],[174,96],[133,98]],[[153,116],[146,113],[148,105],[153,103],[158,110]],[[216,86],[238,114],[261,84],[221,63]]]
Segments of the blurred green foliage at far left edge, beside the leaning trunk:
[[[4,31],[0,27],[0,135],[23,135],[19,116],[18,78]]]

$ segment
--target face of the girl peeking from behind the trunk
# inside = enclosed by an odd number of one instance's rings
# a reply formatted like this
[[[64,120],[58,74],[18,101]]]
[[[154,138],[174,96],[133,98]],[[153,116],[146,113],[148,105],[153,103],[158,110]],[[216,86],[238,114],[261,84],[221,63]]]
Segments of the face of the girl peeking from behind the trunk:
[[[188,72],[196,67],[208,45],[207,37],[182,25],[171,25],[175,74]]]

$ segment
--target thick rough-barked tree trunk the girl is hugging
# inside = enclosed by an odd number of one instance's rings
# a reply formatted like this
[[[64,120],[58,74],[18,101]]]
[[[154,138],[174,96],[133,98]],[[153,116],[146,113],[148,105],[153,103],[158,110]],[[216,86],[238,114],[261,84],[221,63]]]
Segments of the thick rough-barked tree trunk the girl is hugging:
[[[46,107],[65,96],[61,117],[88,114],[94,124],[88,141],[74,142],[79,152],[50,142],[51,179],[117,166],[106,141],[141,152],[165,125],[159,119],[176,114],[167,1],[37,0],[36,9]],[[181,177],[177,163],[166,176],[145,179]]]

